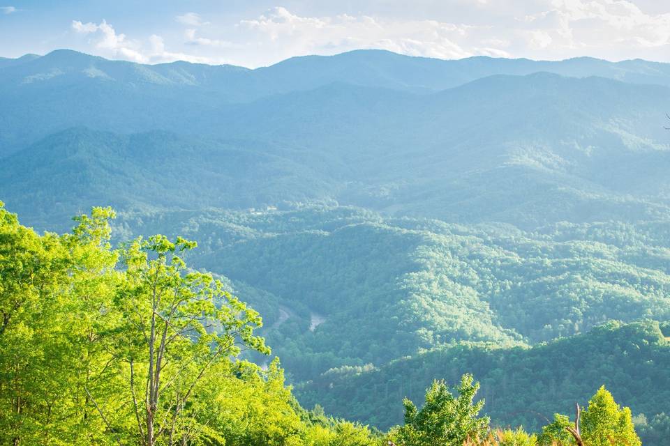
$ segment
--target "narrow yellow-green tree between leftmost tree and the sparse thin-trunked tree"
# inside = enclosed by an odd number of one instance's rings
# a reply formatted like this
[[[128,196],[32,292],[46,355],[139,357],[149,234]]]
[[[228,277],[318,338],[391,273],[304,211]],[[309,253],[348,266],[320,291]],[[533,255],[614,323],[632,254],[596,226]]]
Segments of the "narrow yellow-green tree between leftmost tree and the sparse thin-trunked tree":
[[[79,215],[72,233],[61,236],[70,262],[67,294],[55,319],[62,327],[60,339],[68,352],[64,375],[69,385],[71,415],[61,428],[70,425],[70,445],[110,443],[98,416],[99,404],[119,401],[123,382],[113,367],[105,334],[119,325],[119,314],[110,312],[121,279],[115,269],[118,255],[111,249],[111,208],[93,208],[91,215]],[[67,401],[67,398],[63,398]],[[62,429],[61,429],[62,430]]]

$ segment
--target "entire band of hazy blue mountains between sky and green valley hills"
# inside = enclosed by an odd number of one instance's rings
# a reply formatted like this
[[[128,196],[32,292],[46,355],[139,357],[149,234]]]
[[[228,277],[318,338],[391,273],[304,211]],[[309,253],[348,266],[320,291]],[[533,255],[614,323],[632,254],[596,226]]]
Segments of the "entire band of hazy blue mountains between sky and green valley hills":
[[[248,70],[60,50],[0,67],[4,198],[59,215],[283,201],[526,227],[670,215],[662,63],[358,51]]]

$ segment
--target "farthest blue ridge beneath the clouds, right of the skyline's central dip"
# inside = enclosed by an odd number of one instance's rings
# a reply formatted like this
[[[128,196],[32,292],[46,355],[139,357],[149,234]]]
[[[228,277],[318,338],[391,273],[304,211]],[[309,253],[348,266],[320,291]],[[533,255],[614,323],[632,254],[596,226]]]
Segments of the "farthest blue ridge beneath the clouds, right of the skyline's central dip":
[[[331,82],[378,86],[412,92],[440,91],[491,75],[552,72],[569,77],[600,76],[625,82],[670,85],[670,64],[642,60],[612,63],[589,57],[531,61],[475,56],[430,59],[382,50],[357,50],[336,56],[294,57],[255,74],[283,89],[310,89]]]

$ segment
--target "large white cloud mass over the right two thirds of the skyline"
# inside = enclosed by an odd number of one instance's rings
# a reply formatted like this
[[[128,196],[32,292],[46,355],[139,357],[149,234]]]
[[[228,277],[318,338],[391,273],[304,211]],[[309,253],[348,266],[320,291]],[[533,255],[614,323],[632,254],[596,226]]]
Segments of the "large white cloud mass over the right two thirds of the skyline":
[[[423,3],[431,2],[417,0],[414,9],[421,10]],[[449,9],[450,3],[454,8]],[[444,14],[438,11],[433,15],[450,17],[449,22],[409,20],[399,14],[395,18],[312,17],[275,7],[253,20],[241,20],[236,31],[266,60],[268,56],[278,60],[356,48],[443,59],[474,55],[670,57],[670,13],[646,13],[629,0],[447,0],[443,4]],[[461,13],[452,14],[452,10]]]

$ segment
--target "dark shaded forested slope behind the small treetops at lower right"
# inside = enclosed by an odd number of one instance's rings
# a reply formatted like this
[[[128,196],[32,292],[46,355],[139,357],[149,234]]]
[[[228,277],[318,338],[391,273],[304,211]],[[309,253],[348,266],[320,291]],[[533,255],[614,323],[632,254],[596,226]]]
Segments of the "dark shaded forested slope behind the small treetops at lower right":
[[[606,385],[634,415],[667,413],[669,325],[609,323],[588,334],[533,348],[468,344],[405,357],[383,367],[333,369],[300,385],[301,402],[336,415],[391,426],[401,422],[403,397],[421,401],[433,378],[452,385],[472,372],[481,381],[484,411],[495,424],[539,429],[553,413],[571,414]]]

